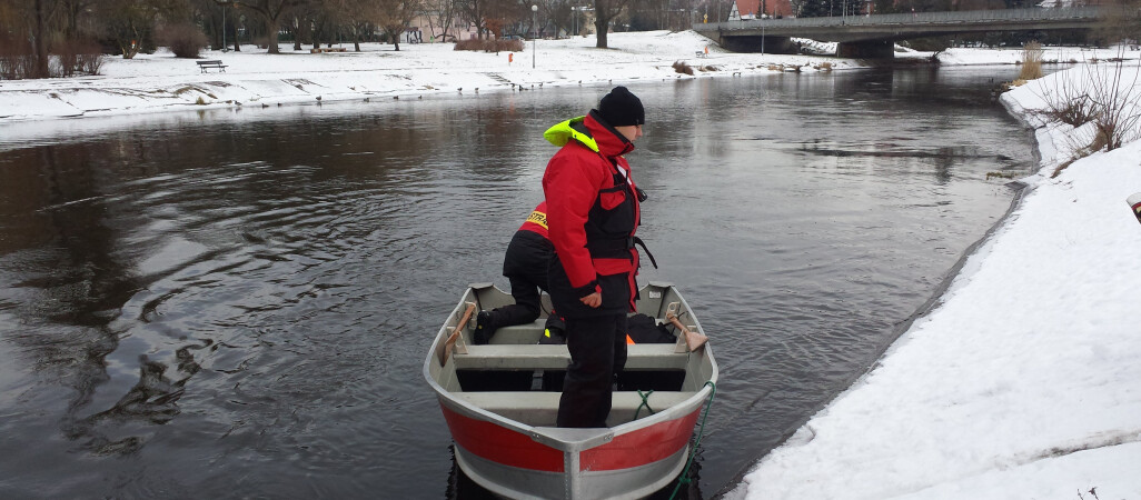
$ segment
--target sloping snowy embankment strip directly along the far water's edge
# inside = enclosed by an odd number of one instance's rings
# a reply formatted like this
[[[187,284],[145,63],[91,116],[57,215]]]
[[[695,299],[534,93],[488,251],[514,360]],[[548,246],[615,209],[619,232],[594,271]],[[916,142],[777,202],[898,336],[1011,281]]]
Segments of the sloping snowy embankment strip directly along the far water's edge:
[[[873,69],[890,66],[1009,66],[1012,63],[933,62],[930,52],[904,52],[890,62],[845,59],[834,56],[795,56],[795,63],[776,59],[767,64],[745,63],[750,54],[721,52],[723,59],[705,58],[682,63],[696,67],[693,75],[678,73],[671,62],[631,62],[590,73],[570,71],[531,71],[515,73],[508,80],[491,76],[478,68],[447,71],[421,68],[407,71],[349,69],[343,72],[289,72],[273,77],[249,77],[249,74],[215,73],[194,77],[162,77],[152,83],[138,83],[139,77],[76,77],[43,81],[43,88],[13,85],[0,82],[0,125],[29,121],[106,117],[128,114],[168,112],[267,108],[270,106],[326,105],[374,99],[456,98],[466,96],[462,88],[440,87],[439,81],[464,82],[471,96],[485,92],[533,91],[544,87],[634,84],[656,81],[703,77],[738,77],[780,73],[830,73],[832,71]],[[764,56],[764,55],[761,55]],[[772,57],[772,56],[766,56]],[[670,58],[672,59],[672,58]],[[722,65],[718,67],[718,65]],[[403,88],[385,88],[377,82],[403,80]],[[15,88],[10,88],[15,87]],[[90,103],[98,103],[91,105]]]

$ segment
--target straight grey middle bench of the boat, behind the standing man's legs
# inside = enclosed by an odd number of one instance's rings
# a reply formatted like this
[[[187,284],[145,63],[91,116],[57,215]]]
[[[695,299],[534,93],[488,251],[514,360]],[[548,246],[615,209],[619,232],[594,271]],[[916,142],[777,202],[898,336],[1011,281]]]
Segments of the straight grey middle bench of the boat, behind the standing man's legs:
[[[674,344],[626,345],[626,371],[683,370],[689,353],[675,353]],[[565,370],[570,363],[566,345],[468,345],[468,353],[452,355],[458,370]]]

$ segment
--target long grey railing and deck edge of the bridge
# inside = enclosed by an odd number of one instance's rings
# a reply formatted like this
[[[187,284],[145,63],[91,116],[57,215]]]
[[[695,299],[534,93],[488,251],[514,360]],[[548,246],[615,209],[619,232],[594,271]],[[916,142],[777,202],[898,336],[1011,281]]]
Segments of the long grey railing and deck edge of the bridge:
[[[764,27],[820,27],[820,26],[879,26],[879,25],[923,25],[923,24],[969,24],[987,22],[1034,22],[1034,21],[1066,21],[1066,19],[1094,19],[1101,14],[1097,6],[1066,7],[1066,8],[1029,8],[1029,9],[996,9],[996,10],[955,10],[942,13],[904,13],[904,14],[873,14],[855,16],[832,16],[832,17],[798,17],[780,19],[745,19],[729,21],[725,23],[695,24],[695,31],[711,30],[748,30]]]

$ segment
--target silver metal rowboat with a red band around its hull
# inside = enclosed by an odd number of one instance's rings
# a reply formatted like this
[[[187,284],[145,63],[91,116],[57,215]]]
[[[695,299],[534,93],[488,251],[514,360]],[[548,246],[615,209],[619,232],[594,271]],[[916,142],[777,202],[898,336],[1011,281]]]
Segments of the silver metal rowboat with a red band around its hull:
[[[671,285],[650,284],[641,296],[640,311],[656,311],[659,322],[666,315],[685,317],[688,329],[701,333]],[[505,370],[527,377],[527,370],[566,369],[565,346],[536,346],[526,328],[500,330],[493,339],[500,345],[467,345],[472,310],[489,310],[509,300],[489,285],[472,285],[439,330],[424,363],[424,377],[437,393],[455,442],[459,468],[507,498],[633,499],[674,481],[685,469],[695,425],[717,380],[711,347],[688,349],[681,335],[675,345],[630,346],[625,372],[672,379],[675,386],[658,387],[656,393],[645,387],[615,392],[610,427],[560,428],[553,418],[559,393],[488,388],[470,375]],[[541,322],[534,329],[537,338]],[[464,380],[466,374],[474,378]]]

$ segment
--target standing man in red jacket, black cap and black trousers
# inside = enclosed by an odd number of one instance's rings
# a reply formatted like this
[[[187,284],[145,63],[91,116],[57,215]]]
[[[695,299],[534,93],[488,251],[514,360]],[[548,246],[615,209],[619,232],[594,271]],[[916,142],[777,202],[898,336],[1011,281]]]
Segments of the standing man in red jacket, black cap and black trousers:
[[[626,313],[638,296],[634,237],[640,195],[623,155],[642,136],[646,112],[625,87],[586,116],[543,136],[559,146],[543,174],[548,235],[555,259],[548,292],[566,322],[570,366],[559,402],[559,427],[605,427],[612,383],[626,360]]]

